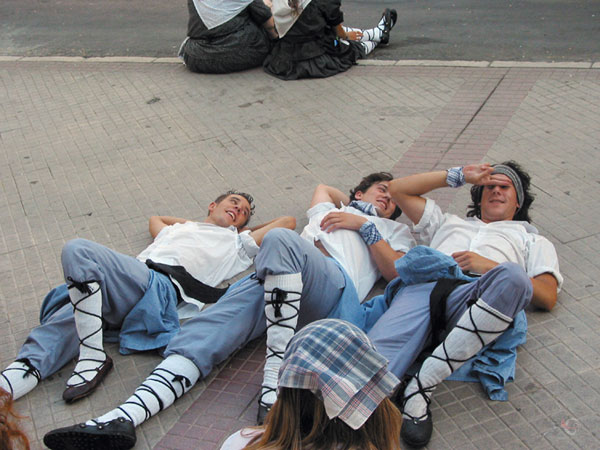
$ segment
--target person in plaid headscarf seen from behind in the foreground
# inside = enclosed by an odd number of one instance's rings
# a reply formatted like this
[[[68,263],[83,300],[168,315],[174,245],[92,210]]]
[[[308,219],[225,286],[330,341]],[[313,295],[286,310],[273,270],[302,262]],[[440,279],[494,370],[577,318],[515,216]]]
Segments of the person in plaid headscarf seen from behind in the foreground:
[[[387,397],[398,383],[358,327],[318,320],[290,341],[264,426],[232,434],[221,450],[396,450],[402,416]]]

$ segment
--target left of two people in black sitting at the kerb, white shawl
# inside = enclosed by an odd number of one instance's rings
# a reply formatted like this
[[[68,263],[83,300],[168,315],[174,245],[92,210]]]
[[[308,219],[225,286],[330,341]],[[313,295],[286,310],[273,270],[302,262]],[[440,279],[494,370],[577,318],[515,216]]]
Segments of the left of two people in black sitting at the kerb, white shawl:
[[[270,0],[188,0],[188,35],[179,57],[192,72],[258,67],[277,37]]]

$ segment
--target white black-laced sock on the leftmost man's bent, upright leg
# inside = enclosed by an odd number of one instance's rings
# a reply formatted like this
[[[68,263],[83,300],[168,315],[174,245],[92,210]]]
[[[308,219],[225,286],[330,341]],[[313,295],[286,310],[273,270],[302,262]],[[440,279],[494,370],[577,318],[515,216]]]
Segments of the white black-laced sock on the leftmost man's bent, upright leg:
[[[80,344],[79,359],[67,386],[91,380],[98,373],[96,369],[106,360],[102,344],[102,291],[95,281],[83,283],[83,286],[87,286],[89,292],[81,292],[75,286],[69,288]]]

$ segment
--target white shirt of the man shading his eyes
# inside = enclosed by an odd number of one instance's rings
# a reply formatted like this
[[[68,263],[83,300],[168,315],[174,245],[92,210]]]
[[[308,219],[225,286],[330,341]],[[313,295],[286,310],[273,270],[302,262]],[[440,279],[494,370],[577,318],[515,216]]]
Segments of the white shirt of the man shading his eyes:
[[[562,286],[554,245],[525,221],[502,220],[485,223],[476,217],[462,219],[443,213],[427,199],[423,216],[414,227],[418,240],[447,255],[472,251],[497,263],[519,264],[530,277],[550,273]]]

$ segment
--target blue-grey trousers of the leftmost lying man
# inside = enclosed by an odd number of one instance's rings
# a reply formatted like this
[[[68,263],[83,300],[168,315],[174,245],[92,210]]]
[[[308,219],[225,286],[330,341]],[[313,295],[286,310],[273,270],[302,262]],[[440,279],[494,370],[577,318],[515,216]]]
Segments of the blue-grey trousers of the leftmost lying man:
[[[102,317],[109,328],[121,327],[125,316],[144,296],[150,280],[150,269],[144,263],[86,239],[67,242],[61,261],[67,284],[68,278],[100,284]],[[78,354],[79,338],[69,304],[31,330],[17,359],[29,359],[44,379]]]

